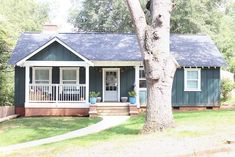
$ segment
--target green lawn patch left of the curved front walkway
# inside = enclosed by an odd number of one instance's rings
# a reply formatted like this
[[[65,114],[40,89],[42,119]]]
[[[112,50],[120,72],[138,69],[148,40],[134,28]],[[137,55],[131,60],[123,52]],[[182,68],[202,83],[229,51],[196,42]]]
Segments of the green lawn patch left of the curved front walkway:
[[[0,123],[0,147],[63,134],[97,123],[101,118],[32,117]]]

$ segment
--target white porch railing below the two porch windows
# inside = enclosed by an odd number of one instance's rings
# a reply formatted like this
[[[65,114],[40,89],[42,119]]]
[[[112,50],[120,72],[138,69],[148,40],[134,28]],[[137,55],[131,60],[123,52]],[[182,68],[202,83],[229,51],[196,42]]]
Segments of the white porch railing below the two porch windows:
[[[29,102],[85,102],[85,84],[29,84]]]

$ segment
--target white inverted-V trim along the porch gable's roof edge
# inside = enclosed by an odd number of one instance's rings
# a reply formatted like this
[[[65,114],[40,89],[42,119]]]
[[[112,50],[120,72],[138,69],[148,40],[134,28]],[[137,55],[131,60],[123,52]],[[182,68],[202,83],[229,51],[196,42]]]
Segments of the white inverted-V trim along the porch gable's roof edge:
[[[87,58],[85,58],[84,56],[80,55],[79,53],[77,53],[75,50],[73,50],[72,48],[70,48],[68,45],[66,45],[63,41],[61,41],[59,38],[54,37],[53,39],[51,39],[50,41],[48,41],[46,44],[44,44],[43,46],[39,47],[38,49],[36,49],[34,52],[32,52],[31,54],[29,54],[28,56],[26,56],[25,58],[21,59],[20,61],[18,61],[16,63],[17,66],[22,66],[27,59],[31,58],[32,56],[34,56],[35,54],[37,54],[38,52],[40,52],[41,50],[45,49],[47,46],[51,45],[54,42],[58,42],[59,44],[61,44],[62,46],[64,46],[66,49],[68,49],[69,51],[71,51],[74,55],[78,56],[79,58],[81,58],[82,60],[84,60],[87,64],[89,65],[93,65],[93,63],[91,61],[89,61]]]

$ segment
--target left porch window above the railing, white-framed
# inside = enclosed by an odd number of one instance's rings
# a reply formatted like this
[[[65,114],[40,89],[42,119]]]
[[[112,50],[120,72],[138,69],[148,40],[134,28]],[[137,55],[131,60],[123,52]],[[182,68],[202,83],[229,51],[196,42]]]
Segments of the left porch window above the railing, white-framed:
[[[51,68],[33,67],[33,83],[51,84]]]

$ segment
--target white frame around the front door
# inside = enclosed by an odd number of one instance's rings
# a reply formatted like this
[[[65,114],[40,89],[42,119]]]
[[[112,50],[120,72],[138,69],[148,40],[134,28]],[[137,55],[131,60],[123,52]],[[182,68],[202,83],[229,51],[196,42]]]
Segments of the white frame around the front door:
[[[102,102],[106,102],[105,101],[105,95],[104,95],[104,93],[105,93],[105,72],[106,71],[117,71],[117,78],[118,78],[118,100],[117,100],[117,102],[120,102],[120,68],[103,68],[102,69],[102,83],[103,83],[103,85],[102,85],[102,88],[103,88],[103,90],[102,90]]]

